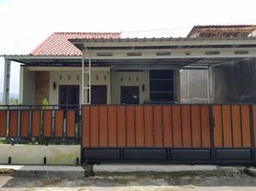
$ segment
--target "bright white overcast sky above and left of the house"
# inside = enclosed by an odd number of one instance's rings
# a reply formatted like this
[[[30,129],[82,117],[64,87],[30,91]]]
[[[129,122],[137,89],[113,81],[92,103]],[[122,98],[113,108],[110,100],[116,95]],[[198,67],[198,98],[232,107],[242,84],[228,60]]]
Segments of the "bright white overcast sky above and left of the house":
[[[256,24],[255,0],[0,0],[0,55],[28,54],[53,32],[184,37],[194,25]],[[11,62],[11,93],[19,92]],[[0,93],[4,59],[0,57]]]

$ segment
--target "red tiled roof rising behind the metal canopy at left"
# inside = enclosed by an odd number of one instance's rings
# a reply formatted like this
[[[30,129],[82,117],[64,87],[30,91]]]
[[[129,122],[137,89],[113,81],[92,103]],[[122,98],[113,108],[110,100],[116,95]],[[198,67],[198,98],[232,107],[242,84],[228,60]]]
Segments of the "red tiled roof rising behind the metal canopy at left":
[[[31,55],[82,55],[69,39],[119,38],[118,32],[54,32]]]

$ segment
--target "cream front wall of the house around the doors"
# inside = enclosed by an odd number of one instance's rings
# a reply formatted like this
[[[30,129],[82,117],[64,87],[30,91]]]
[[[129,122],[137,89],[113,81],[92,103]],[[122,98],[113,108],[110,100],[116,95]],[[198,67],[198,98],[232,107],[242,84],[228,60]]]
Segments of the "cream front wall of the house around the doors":
[[[49,103],[58,104],[59,85],[79,85],[79,99],[82,100],[82,74],[80,67],[21,67],[20,75],[20,101],[22,104],[34,104],[34,74],[35,71],[50,72],[50,90]],[[180,73],[174,73],[174,98],[180,100]],[[56,84],[53,90],[53,82]],[[87,77],[85,76],[85,84]],[[111,70],[109,67],[93,67],[92,68],[92,85],[107,86],[107,103],[120,104],[120,87],[121,86],[139,86],[139,103],[148,100],[149,86],[149,70],[142,71],[117,71]],[[145,89],[142,91],[142,85]],[[86,91],[84,94],[87,97]]]

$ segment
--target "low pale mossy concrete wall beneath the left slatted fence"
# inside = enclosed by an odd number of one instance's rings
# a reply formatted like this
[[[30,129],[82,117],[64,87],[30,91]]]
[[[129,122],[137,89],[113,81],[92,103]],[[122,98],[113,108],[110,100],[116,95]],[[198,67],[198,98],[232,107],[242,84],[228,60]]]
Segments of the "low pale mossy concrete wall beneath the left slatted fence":
[[[46,164],[75,165],[80,161],[80,145],[8,145],[0,144],[0,163],[8,164]]]

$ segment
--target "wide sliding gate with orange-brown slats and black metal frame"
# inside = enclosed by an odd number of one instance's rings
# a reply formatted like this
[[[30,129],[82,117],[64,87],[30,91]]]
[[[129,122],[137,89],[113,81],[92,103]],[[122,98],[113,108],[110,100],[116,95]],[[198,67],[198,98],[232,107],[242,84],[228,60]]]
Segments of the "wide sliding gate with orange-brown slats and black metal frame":
[[[255,164],[255,126],[254,105],[83,106],[82,162]]]

